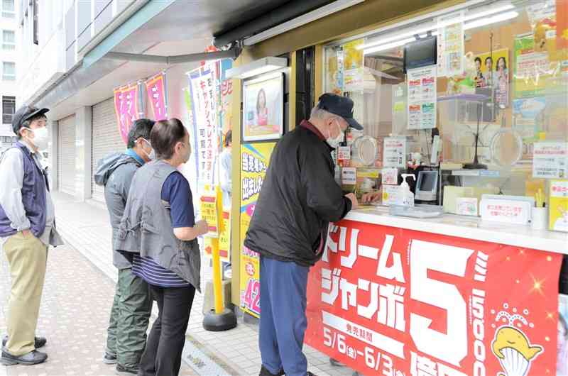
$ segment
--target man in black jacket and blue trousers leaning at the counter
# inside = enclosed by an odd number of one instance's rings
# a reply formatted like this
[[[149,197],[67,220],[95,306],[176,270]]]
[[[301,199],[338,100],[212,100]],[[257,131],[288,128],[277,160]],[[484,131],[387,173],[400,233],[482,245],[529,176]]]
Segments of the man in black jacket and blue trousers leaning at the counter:
[[[329,222],[358,203],[334,179],[331,152],[346,128],[363,129],[353,101],[323,94],[310,120],[285,134],[266,172],[244,245],[261,255],[261,376],[306,376],[307,274],[320,260]]]

